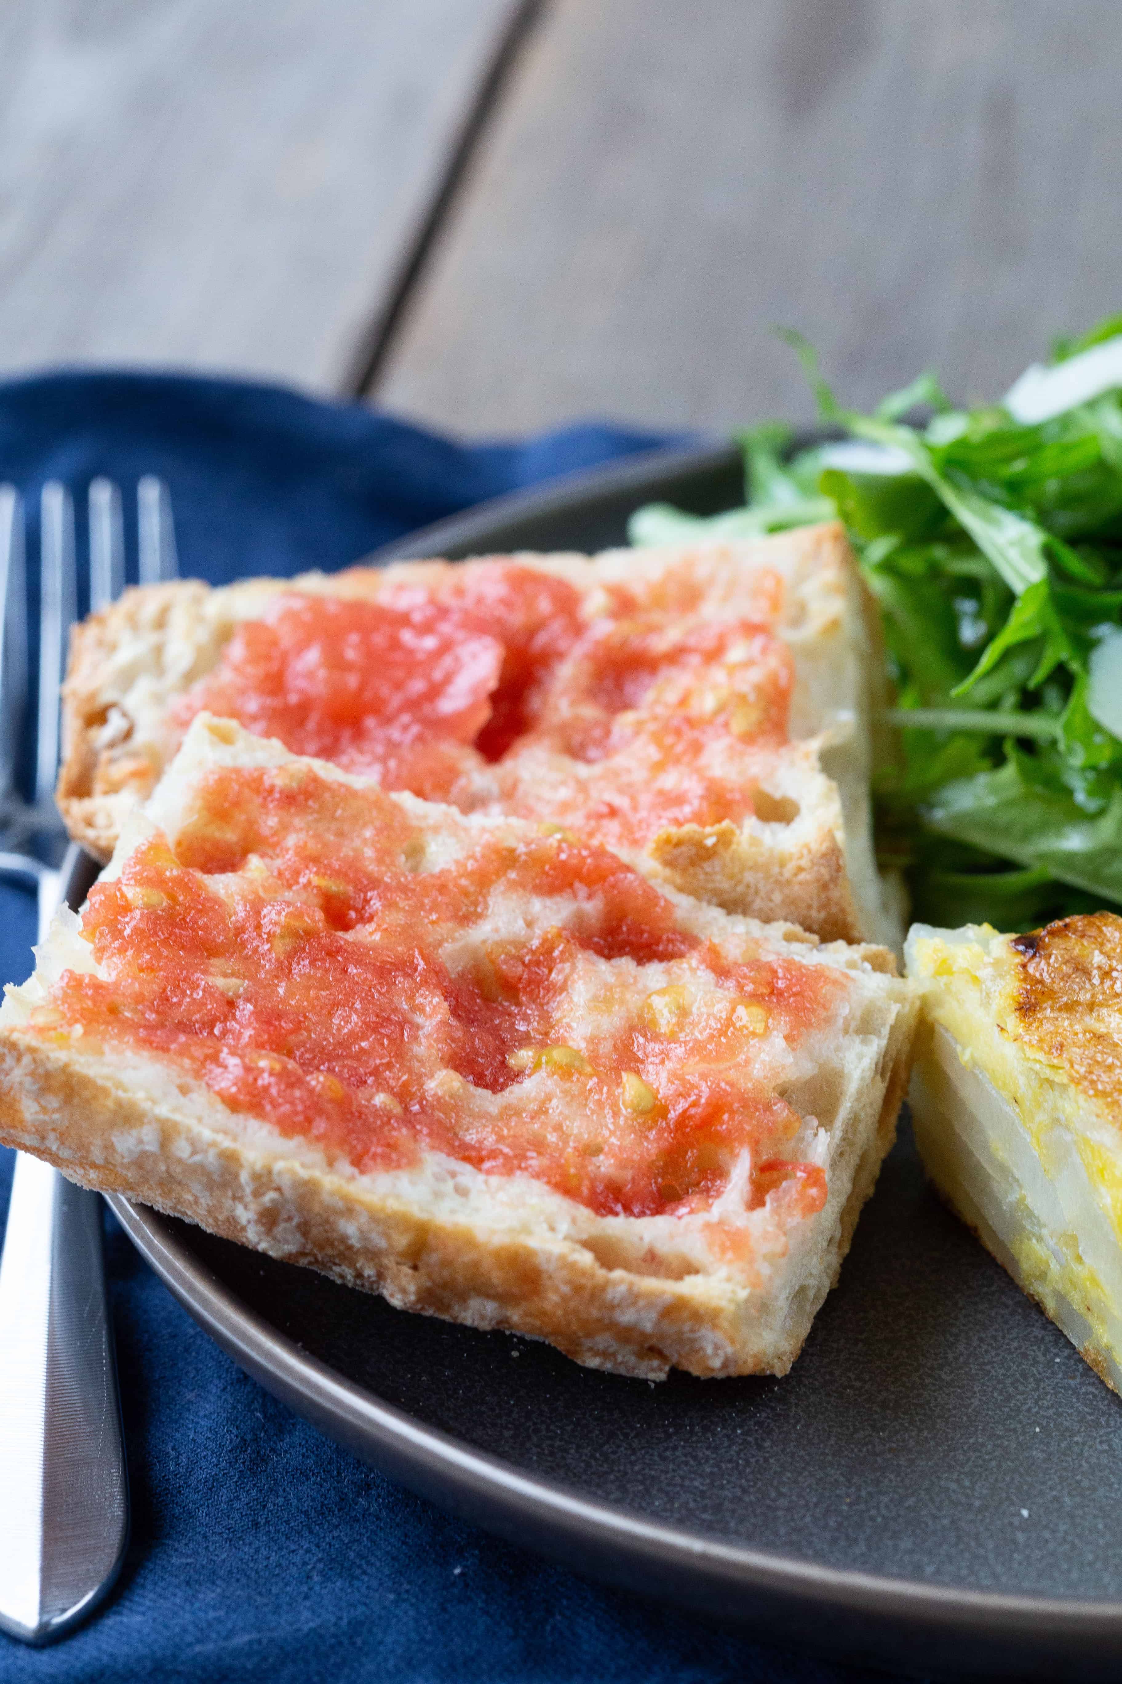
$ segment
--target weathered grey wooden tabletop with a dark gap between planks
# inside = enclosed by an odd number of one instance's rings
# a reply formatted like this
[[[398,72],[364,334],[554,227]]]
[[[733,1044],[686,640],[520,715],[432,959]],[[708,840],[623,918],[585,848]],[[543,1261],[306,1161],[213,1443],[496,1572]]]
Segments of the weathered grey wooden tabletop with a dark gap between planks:
[[[0,374],[723,428],[1122,308],[1117,0],[8,0]]]

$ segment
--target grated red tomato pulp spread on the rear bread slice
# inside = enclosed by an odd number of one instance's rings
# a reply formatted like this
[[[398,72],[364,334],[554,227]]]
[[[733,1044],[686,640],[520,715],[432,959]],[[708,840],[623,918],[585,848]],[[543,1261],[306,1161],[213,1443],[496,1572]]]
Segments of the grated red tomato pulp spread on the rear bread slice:
[[[585,618],[572,584],[515,561],[390,579],[375,600],[283,593],[175,722],[209,709],[390,790],[641,850],[666,827],[744,820],[787,741],[786,645],[675,603],[617,588]]]

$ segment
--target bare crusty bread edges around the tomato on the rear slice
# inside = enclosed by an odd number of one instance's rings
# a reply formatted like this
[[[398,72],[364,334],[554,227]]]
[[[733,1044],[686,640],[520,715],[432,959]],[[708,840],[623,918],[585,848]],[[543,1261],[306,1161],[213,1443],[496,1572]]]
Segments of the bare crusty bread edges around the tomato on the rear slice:
[[[560,576],[589,603],[606,584],[626,584],[651,606],[675,606],[675,562],[696,561],[703,605],[715,616],[742,611],[745,579],[774,573],[782,603],[772,628],[796,658],[789,783],[781,808],[794,823],[663,830],[634,864],[688,894],[760,919],[789,918],[824,940],[900,945],[881,904],[868,815],[871,733],[883,699],[875,605],[836,522],[723,546],[516,556],[520,566]],[[249,579],[222,589],[198,581],[126,591],[76,626],[62,687],[64,758],[57,803],[71,837],[108,861],[121,827],[155,786],[177,739],[167,711],[217,665],[236,626],[264,613],[281,591],[373,598],[387,581],[439,586],[449,562],[353,568],[326,578]],[[738,594],[740,593],[740,594]],[[762,610],[760,610],[762,611]],[[823,765],[826,758],[828,766]]]

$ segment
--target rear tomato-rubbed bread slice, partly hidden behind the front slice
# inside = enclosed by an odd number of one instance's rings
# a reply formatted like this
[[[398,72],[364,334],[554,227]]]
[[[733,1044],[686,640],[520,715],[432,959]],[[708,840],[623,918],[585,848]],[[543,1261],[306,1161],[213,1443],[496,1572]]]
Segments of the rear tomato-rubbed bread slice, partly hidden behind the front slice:
[[[521,581],[515,606],[503,598],[510,581]],[[284,716],[257,706],[252,685],[274,684],[284,662],[291,677],[306,653],[293,653],[291,638],[262,652],[264,638],[308,598],[347,601],[352,615],[377,603],[461,616],[444,645],[453,675],[441,669],[444,689],[419,714],[409,714],[415,674],[390,663],[378,689],[385,645],[372,643],[363,672],[348,675],[367,685],[368,711],[394,714],[373,758],[363,759],[355,731],[345,741],[336,722],[323,727],[326,704],[313,689]],[[728,911],[898,946],[898,908],[876,876],[870,829],[876,637],[836,524],[594,559],[527,554],[222,589],[151,586],[74,635],[59,808],[71,835],[108,859],[190,711],[207,707],[387,788],[579,830]],[[328,665],[338,658],[330,652]],[[417,660],[434,665],[431,653]],[[501,741],[500,714],[516,714]],[[432,748],[421,759],[419,739]]]

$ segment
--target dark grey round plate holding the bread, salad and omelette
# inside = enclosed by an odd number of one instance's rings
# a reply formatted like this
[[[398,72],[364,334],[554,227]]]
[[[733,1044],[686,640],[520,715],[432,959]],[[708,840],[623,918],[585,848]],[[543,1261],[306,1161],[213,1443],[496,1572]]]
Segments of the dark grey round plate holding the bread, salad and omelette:
[[[738,495],[728,450],[659,453],[395,554],[594,549],[644,500]],[[907,1130],[782,1381],[594,1374],[111,1202],[264,1386],[483,1526],[838,1655],[1122,1669],[1119,1399],[925,1189]]]

